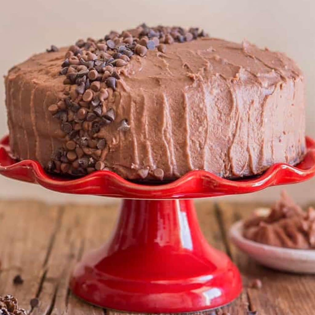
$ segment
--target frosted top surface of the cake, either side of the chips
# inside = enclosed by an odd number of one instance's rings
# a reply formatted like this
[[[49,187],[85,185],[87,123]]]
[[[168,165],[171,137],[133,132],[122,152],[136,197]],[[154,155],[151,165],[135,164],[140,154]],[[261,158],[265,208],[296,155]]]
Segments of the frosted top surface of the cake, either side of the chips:
[[[134,81],[135,86],[183,88],[196,79],[220,76],[225,81],[254,81],[269,88],[287,78],[301,77],[302,73],[293,60],[285,54],[259,49],[243,41],[232,43],[218,38],[198,37],[189,42],[165,45],[165,52],[147,50],[146,56],[134,55],[130,62],[117,68],[123,80],[117,85],[123,88]],[[71,47],[70,47],[71,48]],[[58,51],[36,54],[13,67],[9,75],[21,74],[38,83],[54,82],[63,86],[61,64],[69,47]],[[119,84],[121,83],[121,84]]]

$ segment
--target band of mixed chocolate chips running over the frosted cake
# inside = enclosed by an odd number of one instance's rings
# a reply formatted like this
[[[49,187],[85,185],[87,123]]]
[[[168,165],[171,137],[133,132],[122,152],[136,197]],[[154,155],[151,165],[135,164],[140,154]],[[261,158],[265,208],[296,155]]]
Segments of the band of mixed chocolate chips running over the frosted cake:
[[[120,133],[130,130],[127,119],[119,117],[116,121],[116,108],[107,105],[109,96],[117,93],[120,75],[124,73],[121,69],[128,67],[134,54],[145,57],[149,50],[167,53],[166,44],[202,36],[205,34],[197,28],[186,31],[181,27],[150,28],[142,24],[120,34],[112,31],[99,40],[79,39],[70,46],[60,65],[64,84],[70,87],[65,89],[65,97],[48,109],[60,120],[65,144],[54,152],[46,169],[80,176],[104,169],[110,142],[99,135],[100,130],[112,125]],[[54,45],[47,49],[48,52],[57,50]],[[149,169],[138,171],[140,178],[148,174]],[[155,169],[150,174],[163,180],[162,169]]]

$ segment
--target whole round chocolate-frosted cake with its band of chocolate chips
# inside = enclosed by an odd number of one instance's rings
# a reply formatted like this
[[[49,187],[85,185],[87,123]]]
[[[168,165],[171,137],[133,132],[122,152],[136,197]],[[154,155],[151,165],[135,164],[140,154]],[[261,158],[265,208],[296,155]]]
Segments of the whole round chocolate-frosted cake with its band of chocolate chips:
[[[5,78],[10,146],[49,172],[172,180],[261,174],[305,154],[301,70],[285,54],[141,25],[79,40]]]

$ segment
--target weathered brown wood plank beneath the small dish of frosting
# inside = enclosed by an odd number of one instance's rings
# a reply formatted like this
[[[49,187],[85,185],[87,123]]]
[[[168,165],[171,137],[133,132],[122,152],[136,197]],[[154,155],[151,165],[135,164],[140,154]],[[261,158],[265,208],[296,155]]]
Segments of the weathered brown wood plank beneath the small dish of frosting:
[[[248,217],[250,213],[262,204],[229,204],[220,203],[219,213],[228,231],[233,222]],[[312,275],[298,275],[275,271],[260,266],[248,256],[241,253],[230,242],[230,251],[243,275],[244,290],[249,297],[250,309],[258,310],[259,315],[295,315],[314,314],[315,279]],[[262,281],[261,289],[249,288],[249,283],[255,278]],[[231,311],[231,314],[234,314]]]

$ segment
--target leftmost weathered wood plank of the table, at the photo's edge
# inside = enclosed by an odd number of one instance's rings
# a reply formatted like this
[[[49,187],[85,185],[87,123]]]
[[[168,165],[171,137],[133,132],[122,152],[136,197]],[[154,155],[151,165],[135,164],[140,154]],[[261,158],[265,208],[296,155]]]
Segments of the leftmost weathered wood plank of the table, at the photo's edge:
[[[23,308],[29,309],[37,294],[59,217],[57,206],[0,201],[0,295],[16,296]],[[13,284],[17,274],[21,285]]]

